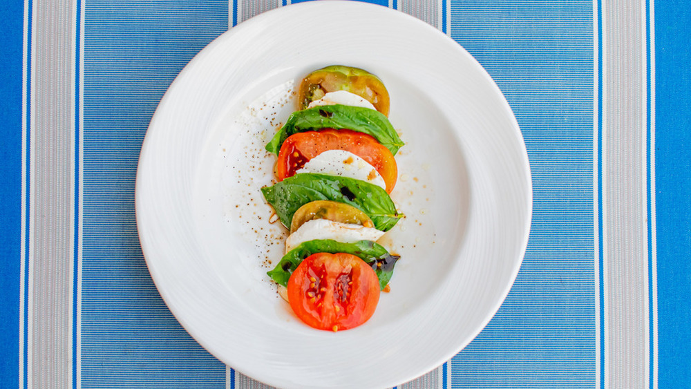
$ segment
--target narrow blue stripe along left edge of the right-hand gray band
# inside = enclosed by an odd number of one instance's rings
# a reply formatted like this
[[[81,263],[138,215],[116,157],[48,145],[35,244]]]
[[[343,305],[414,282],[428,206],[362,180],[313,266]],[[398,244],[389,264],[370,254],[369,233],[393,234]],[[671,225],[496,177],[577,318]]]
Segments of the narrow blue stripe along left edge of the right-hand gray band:
[[[603,246],[603,4],[602,0],[597,0],[597,15],[595,15],[598,23],[598,291],[600,300],[600,318],[599,342],[600,342],[600,388],[605,388],[605,254]]]

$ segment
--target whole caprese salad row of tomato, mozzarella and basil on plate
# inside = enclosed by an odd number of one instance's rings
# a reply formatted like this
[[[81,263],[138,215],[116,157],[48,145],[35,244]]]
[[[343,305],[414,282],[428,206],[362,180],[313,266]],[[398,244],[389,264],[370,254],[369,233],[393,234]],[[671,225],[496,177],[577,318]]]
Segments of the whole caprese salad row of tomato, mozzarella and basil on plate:
[[[389,193],[404,146],[377,76],[348,66],[315,70],[298,111],[266,145],[276,184],[261,189],[290,231],[267,274],[307,325],[347,330],[370,319],[399,256],[377,240],[403,216]]]

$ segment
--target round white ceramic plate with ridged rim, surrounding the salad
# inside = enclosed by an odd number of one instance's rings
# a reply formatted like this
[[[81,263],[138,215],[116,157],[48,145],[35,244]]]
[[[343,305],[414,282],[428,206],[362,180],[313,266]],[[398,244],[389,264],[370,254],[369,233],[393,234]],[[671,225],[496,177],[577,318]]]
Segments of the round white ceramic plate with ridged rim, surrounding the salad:
[[[265,275],[285,233],[259,191],[296,81],[332,64],[381,77],[406,142],[392,193],[406,218],[384,239],[401,255],[391,292],[336,333],[296,319]],[[218,359],[282,388],[384,388],[453,357],[498,310],[527,244],[531,180],[511,109],[454,41],[381,6],[310,2],[241,23],[184,68],[146,133],[136,210],[160,293]]]

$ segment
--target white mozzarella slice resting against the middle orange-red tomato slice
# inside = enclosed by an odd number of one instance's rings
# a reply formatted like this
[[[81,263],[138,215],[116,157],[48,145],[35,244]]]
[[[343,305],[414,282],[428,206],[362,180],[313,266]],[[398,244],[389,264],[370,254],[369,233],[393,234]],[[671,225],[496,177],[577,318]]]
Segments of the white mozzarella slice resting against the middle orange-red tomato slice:
[[[354,178],[386,189],[381,174],[369,162],[345,150],[327,150],[307,161],[295,173],[321,173]]]

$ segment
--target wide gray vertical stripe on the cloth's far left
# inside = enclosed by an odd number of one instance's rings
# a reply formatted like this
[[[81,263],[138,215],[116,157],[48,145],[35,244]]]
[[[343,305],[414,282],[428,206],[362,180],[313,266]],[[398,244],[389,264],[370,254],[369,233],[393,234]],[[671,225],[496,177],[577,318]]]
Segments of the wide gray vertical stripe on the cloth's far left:
[[[28,385],[69,388],[72,377],[73,3],[37,0],[32,47],[32,209]]]

